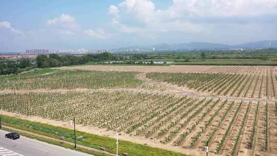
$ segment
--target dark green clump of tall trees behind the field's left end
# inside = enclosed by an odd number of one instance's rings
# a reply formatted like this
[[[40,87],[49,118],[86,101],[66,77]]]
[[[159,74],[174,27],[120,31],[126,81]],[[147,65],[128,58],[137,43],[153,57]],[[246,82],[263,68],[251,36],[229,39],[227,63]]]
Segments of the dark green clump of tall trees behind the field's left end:
[[[122,56],[112,55],[109,52],[85,55],[37,55],[35,59],[1,59],[0,75],[17,74],[33,68],[61,67],[81,65],[88,62],[102,62],[121,60]]]

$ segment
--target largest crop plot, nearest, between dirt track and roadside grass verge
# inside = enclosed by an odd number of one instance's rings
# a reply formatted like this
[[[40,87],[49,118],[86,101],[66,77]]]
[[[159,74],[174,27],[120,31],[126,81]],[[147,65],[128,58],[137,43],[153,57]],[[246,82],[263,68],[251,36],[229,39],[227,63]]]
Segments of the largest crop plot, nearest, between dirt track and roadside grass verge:
[[[75,114],[78,124],[171,146],[203,151],[208,142],[216,154],[263,155],[276,146],[276,136],[268,137],[269,128],[276,128],[275,115],[267,115],[276,112],[274,103],[106,91],[11,93],[0,101],[5,111],[64,122]]]

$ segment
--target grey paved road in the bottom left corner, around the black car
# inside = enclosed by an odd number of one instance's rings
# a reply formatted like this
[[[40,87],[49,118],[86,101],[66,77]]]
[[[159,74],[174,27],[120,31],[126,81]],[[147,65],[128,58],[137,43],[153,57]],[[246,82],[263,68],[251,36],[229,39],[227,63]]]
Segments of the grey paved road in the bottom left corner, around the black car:
[[[5,138],[7,131],[0,130],[0,156],[88,156],[89,154],[28,139],[11,140]]]

